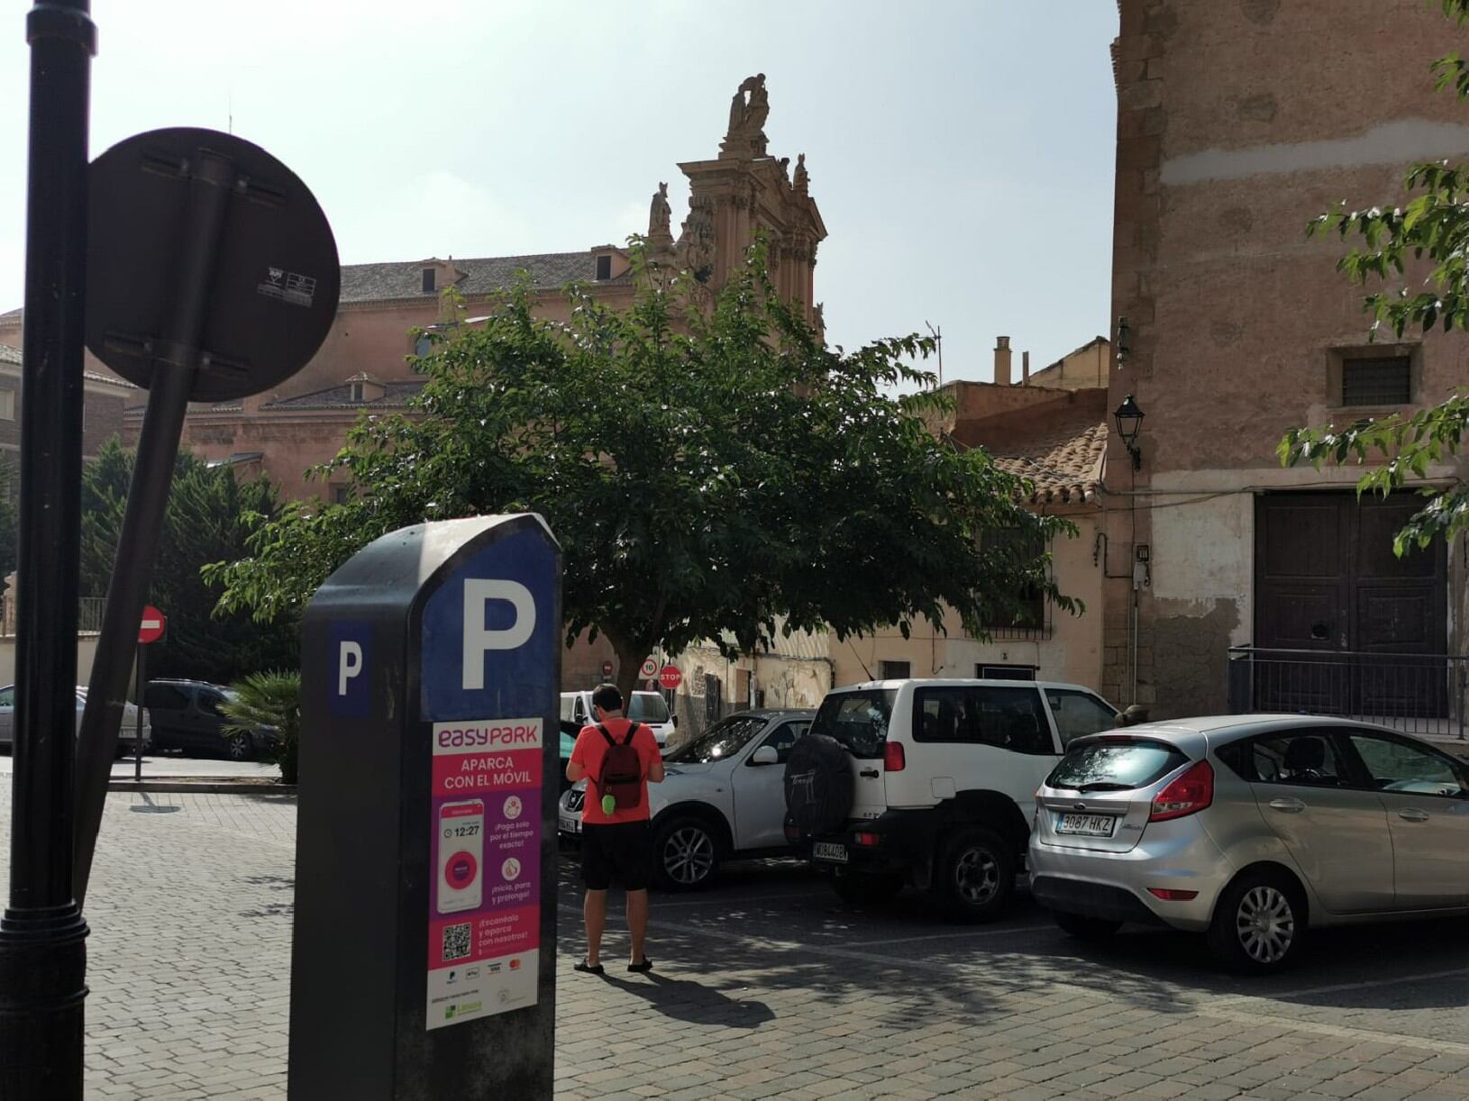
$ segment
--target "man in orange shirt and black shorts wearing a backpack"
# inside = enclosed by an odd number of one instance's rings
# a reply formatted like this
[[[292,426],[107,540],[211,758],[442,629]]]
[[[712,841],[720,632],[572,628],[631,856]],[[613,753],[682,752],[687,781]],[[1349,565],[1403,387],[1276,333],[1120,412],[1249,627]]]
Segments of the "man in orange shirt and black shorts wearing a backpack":
[[[646,724],[633,724],[623,718],[623,693],[616,684],[596,687],[592,693],[592,713],[598,725],[582,727],[571,750],[571,760],[566,766],[566,778],[573,784],[586,780],[586,800],[582,804],[582,882],[586,884],[582,913],[586,919],[586,957],[576,964],[576,970],[602,973],[607,888],[616,878],[627,894],[627,932],[632,934],[633,942],[627,970],[646,972],[652,970],[652,962],[643,951],[643,940],[648,935],[648,881],[652,878],[648,784],[663,782],[663,756]],[[638,728],[629,740],[627,733],[635,725]],[[614,746],[624,744],[636,750],[640,766],[636,803],[626,797],[626,784],[618,785],[624,793],[623,799],[617,799],[611,791],[602,791],[607,755]],[[611,782],[607,787],[611,788]]]

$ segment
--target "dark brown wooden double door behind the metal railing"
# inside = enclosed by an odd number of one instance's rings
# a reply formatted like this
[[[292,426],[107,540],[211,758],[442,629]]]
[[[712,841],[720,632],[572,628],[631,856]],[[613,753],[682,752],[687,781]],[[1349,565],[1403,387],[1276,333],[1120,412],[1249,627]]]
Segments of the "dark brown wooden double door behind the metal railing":
[[[1447,713],[1443,540],[1398,558],[1419,498],[1266,493],[1255,509],[1256,706],[1334,715]],[[1319,655],[1319,656],[1318,656]],[[1334,656],[1329,656],[1334,655]]]

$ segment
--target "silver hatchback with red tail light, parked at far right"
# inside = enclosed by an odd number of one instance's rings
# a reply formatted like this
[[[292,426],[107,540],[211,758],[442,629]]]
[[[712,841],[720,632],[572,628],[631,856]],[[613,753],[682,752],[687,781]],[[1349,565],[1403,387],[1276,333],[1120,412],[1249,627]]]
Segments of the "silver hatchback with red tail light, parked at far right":
[[[1469,765],[1329,718],[1093,734],[1036,793],[1030,881],[1075,937],[1169,925],[1275,970],[1307,928],[1469,913]]]

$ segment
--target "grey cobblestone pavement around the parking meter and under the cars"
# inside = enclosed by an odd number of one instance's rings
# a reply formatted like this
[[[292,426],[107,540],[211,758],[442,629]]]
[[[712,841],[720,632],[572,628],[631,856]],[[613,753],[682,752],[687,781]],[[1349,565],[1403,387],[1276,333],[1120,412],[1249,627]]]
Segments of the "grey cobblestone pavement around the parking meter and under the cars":
[[[285,796],[109,799],[88,1097],[284,1097],[294,828]],[[570,969],[574,876],[560,1098],[1469,1098],[1469,922],[1321,934],[1246,982],[1184,935],[1078,945],[1028,900],[981,928],[918,895],[846,910],[776,862],[655,895],[657,970],[596,979]]]

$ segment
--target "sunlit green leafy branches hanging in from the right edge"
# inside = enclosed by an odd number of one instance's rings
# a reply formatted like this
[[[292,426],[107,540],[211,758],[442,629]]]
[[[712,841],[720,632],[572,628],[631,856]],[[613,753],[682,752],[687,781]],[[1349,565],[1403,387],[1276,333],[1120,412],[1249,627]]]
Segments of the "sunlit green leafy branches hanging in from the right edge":
[[[1443,12],[1459,26],[1469,22],[1469,0],[1440,0]],[[1453,88],[1457,98],[1469,98],[1469,62],[1448,54],[1432,65],[1440,90]],[[1469,329],[1469,170],[1465,166],[1435,161],[1415,164],[1407,172],[1406,188],[1415,192],[1403,206],[1347,210],[1346,204],[1310,223],[1310,233],[1335,232],[1346,239],[1356,236],[1353,248],[1337,269],[1357,285],[1372,286],[1363,308],[1372,316],[1375,339],[1385,324],[1398,338],[1409,329],[1444,332]],[[1410,291],[1404,276],[1407,264],[1426,261],[1425,289]],[[1310,462],[1321,467],[1331,461],[1368,462],[1378,458],[1357,480],[1357,492],[1384,496],[1421,480],[1428,467],[1459,454],[1469,432],[1469,390],[1450,393],[1437,405],[1409,417],[1360,420],[1346,429],[1293,429],[1279,445],[1281,462]],[[1428,546],[1435,537],[1453,539],[1469,531],[1469,486],[1456,479],[1445,487],[1419,489],[1423,506],[1397,533],[1394,550]]]

